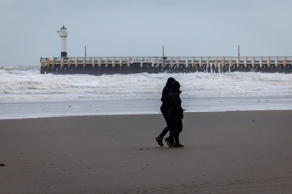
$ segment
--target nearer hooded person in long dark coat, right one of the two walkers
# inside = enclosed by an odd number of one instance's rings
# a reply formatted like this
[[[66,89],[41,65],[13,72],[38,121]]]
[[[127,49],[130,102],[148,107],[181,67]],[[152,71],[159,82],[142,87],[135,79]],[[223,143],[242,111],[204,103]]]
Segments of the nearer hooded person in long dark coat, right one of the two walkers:
[[[183,130],[183,111],[181,107],[180,99],[180,84],[178,81],[172,83],[172,90],[167,95],[167,100],[170,101],[170,106],[168,107],[168,120],[173,127],[173,132],[169,137],[165,138],[167,145],[169,147],[183,147],[179,141],[179,134]],[[174,142],[175,140],[175,142]]]

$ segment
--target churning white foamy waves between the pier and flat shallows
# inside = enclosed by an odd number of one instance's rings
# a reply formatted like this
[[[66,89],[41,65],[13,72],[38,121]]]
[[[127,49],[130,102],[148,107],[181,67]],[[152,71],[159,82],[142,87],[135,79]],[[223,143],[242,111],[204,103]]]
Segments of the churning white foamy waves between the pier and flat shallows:
[[[153,99],[168,77],[180,82],[182,98],[292,96],[292,75],[279,73],[40,74],[39,66],[0,67],[0,103]]]

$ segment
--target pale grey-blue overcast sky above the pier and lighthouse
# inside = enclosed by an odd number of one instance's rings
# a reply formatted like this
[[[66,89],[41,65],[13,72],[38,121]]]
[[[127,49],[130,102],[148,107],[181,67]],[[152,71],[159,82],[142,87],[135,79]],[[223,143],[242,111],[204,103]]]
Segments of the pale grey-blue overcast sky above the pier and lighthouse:
[[[292,56],[292,1],[0,0],[0,66],[84,56]]]

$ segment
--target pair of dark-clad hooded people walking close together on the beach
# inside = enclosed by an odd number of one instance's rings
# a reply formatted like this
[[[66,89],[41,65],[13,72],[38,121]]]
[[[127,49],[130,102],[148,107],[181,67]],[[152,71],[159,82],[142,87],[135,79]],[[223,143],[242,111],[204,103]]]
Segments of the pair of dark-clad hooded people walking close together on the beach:
[[[180,99],[180,84],[174,78],[167,79],[166,86],[162,91],[161,113],[166,121],[167,126],[161,134],[155,139],[160,146],[163,146],[163,137],[169,131],[170,136],[165,138],[168,147],[184,147],[180,144],[179,134],[183,130],[183,111]]]

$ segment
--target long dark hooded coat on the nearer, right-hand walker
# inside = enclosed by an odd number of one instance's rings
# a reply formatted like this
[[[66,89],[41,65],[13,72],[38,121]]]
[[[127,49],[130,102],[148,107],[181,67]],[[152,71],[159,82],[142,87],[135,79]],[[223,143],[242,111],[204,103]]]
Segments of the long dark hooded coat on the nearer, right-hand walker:
[[[171,119],[173,123],[182,123],[183,108],[181,107],[180,99],[180,84],[178,81],[172,83],[172,90],[167,95],[168,101],[170,101],[170,106],[168,108],[168,118]]]

